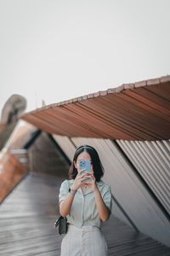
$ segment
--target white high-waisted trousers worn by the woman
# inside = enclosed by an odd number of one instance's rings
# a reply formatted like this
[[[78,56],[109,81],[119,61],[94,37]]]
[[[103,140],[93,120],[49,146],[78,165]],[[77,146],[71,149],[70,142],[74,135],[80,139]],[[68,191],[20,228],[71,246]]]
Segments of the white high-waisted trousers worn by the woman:
[[[60,256],[108,256],[105,237],[95,226],[68,225],[61,242]]]

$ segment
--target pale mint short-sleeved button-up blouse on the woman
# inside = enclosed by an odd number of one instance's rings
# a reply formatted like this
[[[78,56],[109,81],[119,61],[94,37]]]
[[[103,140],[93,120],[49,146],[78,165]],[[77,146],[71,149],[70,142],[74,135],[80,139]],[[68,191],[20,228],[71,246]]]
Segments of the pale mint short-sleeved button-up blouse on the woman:
[[[59,202],[65,200],[65,197],[69,193],[69,188],[71,188],[73,183],[74,179],[65,179],[65,181],[61,183],[59,189]],[[106,207],[111,210],[111,186],[101,180],[96,182],[96,184]],[[67,221],[77,227],[94,225],[100,228],[101,220],[99,218],[94,191],[92,189],[88,189],[85,194],[82,194],[81,188],[77,189],[77,193],[72,201],[71,211],[67,215]]]

